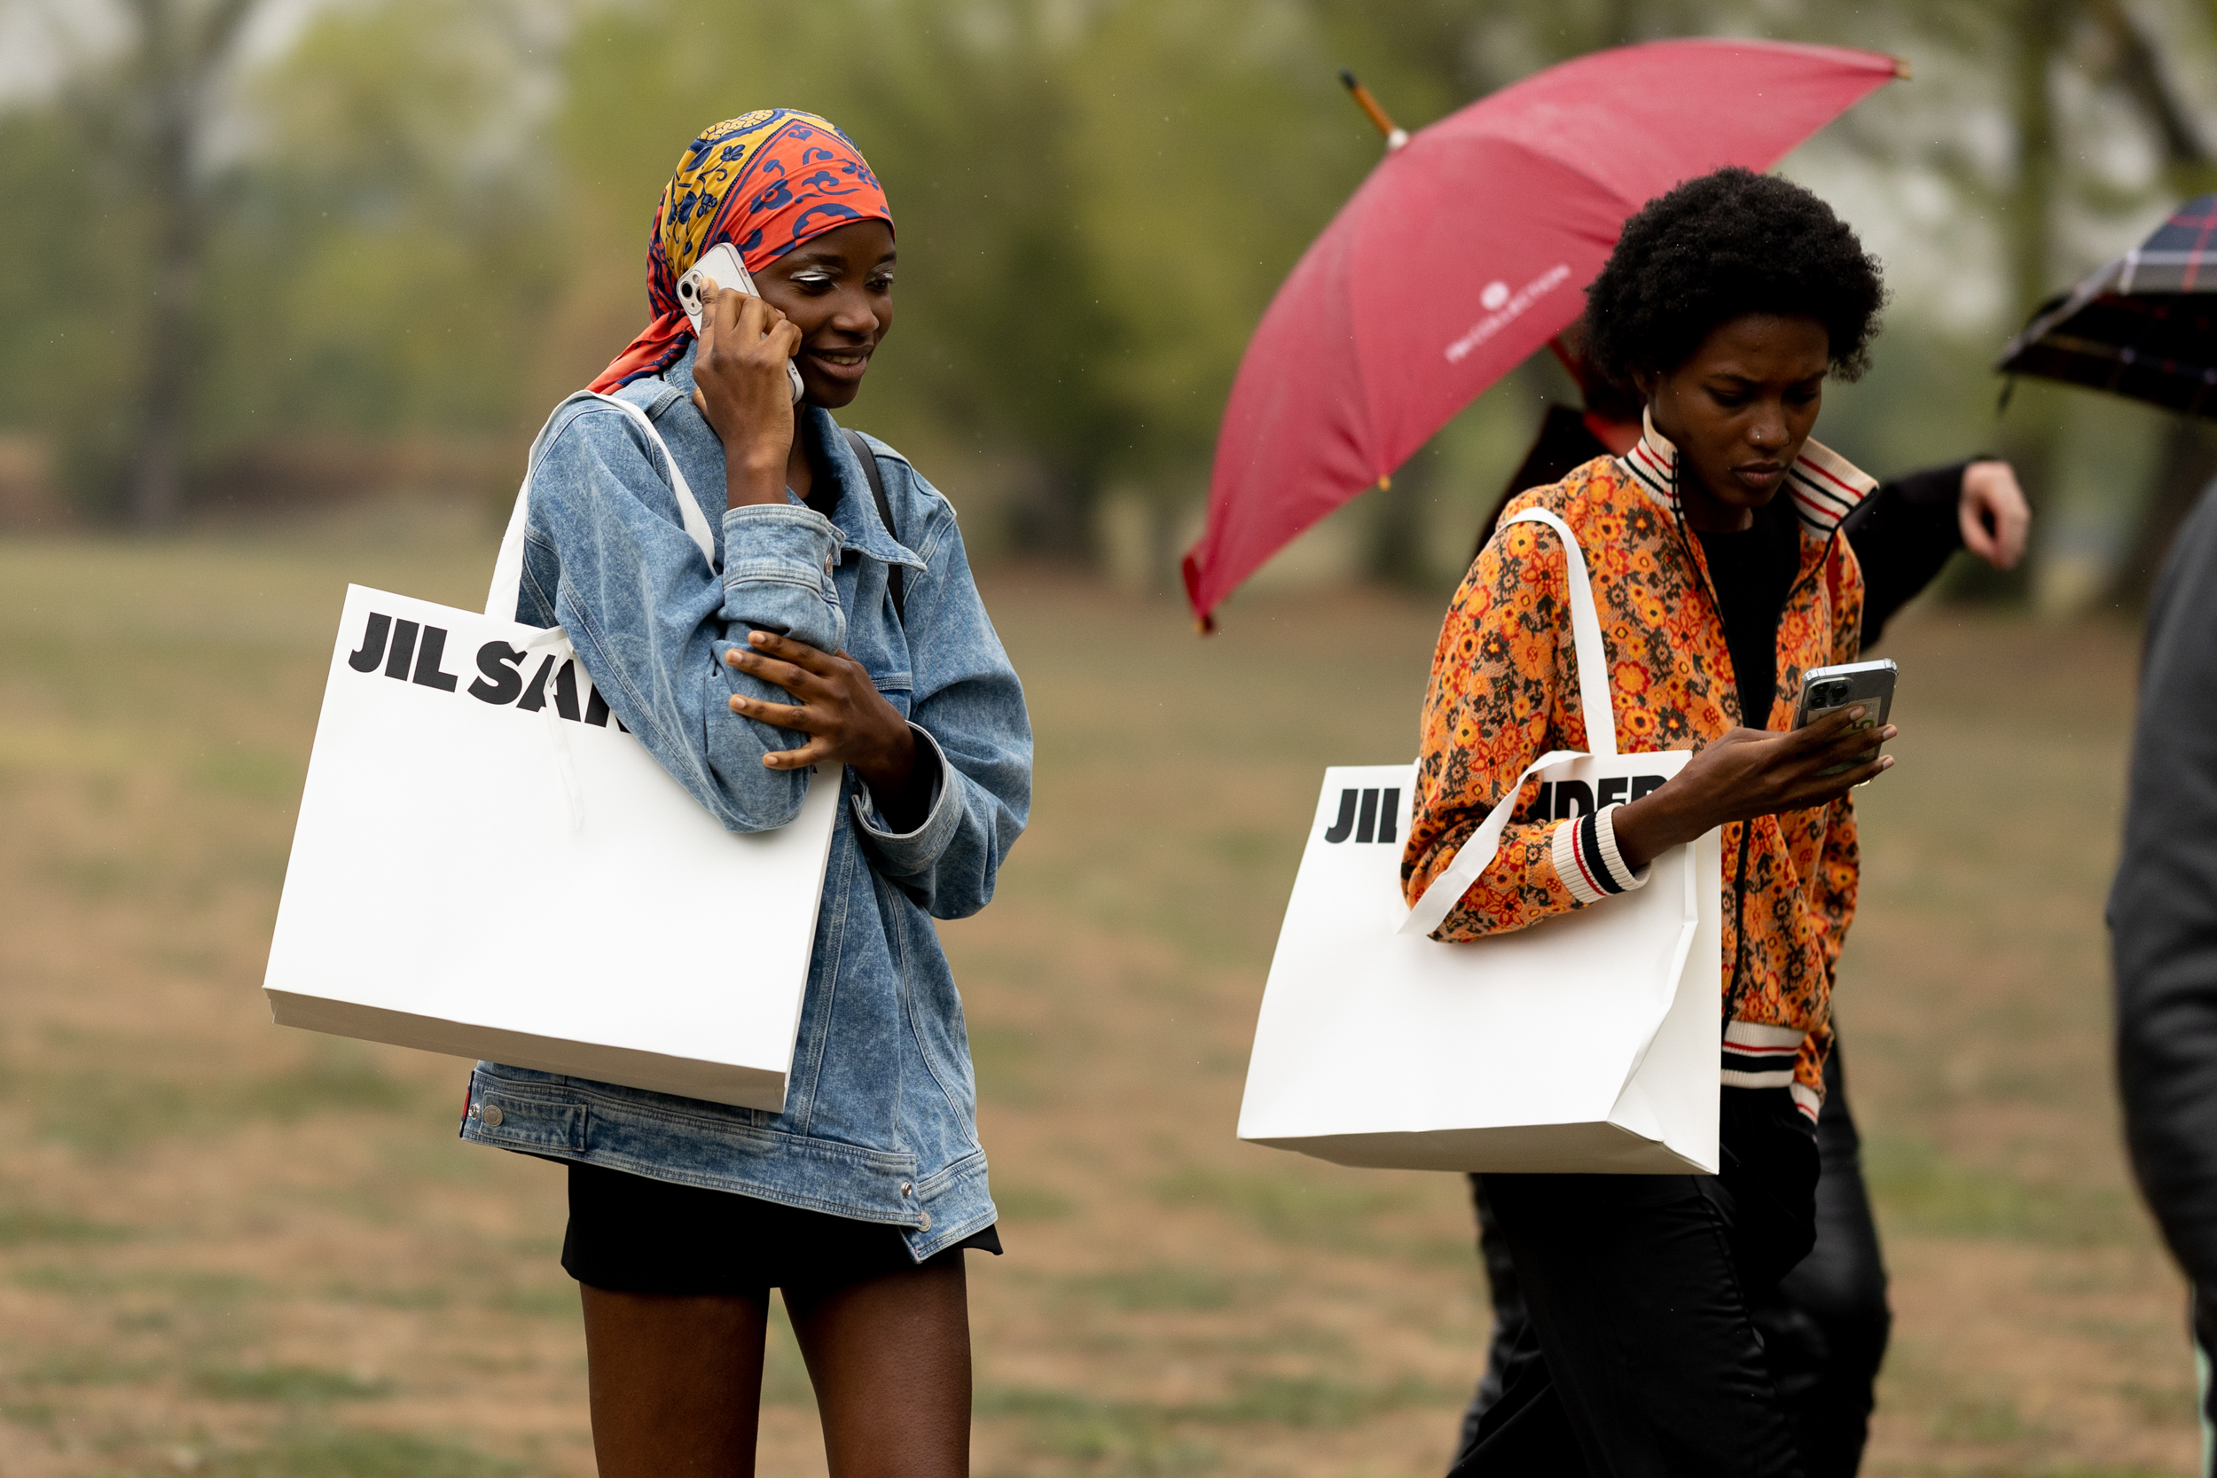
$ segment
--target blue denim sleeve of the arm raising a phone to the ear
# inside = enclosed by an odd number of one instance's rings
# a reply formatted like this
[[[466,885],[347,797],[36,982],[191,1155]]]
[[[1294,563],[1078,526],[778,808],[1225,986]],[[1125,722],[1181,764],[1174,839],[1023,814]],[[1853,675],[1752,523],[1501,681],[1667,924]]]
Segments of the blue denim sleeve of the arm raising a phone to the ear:
[[[791,822],[807,771],[763,758],[796,736],[732,711],[734,694],[776,689],[723,656],[754,629],[838,649],[847,623],[829,576],[831,523],[789,503],[732,507],[718,576],[685,534],[661,452],[614,408],[556,428],[532,468],[532,512],[530,538],[552,558],[528,558],[525,581],[537,587],[541,569],[559,567],[556,589],[534,596],[616,718],[732,831]]]

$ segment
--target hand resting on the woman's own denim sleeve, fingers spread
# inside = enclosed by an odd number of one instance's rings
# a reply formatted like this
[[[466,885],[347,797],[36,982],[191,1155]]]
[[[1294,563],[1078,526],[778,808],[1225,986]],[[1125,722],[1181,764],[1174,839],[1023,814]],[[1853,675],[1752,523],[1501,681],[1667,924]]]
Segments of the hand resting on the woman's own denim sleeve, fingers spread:
[[[796,698],[796,702],[763,702],[732,696],[734,714],[809,736],[800,749],[765,753],[763,764],[769,769],[851,764],[854,773],[876,791],[880,807],[907,796],[909,778],[916,773],[916,733],[858,660],[772,632],[754,632],[745,647],[732,647],[723,660]]]

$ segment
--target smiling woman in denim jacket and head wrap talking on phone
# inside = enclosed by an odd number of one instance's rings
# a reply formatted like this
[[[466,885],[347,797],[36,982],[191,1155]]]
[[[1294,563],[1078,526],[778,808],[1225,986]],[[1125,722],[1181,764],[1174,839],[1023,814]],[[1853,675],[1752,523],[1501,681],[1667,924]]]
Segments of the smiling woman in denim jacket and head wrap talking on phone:
[[[718,246],[758,297],[685,281]],[[953,510],[831,419],[891,326],[893,259],[885,191],[838,129],[789,109],[716,124],[654,213],[654,321],[532,445],[517,620],[561,625],[732,831],[840,787],[783,1112],[497,1064],[470,1081],[466,1139],[568,1161],[563,1267],[610,1478],[754,1471],[772,1287],[831,1474],[969,1471],[962,1256],[1000,1241],[931,920],[991,900],[1031,727]],[[641,926],[747,953],[745,897]]]

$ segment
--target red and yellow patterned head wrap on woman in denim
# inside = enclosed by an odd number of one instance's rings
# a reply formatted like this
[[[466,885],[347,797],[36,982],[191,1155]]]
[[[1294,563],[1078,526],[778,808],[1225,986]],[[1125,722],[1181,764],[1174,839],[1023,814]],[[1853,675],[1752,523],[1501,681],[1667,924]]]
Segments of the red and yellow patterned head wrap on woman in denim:
[[[814,113],[760,109],[727,117],[685,148],[654,206],[647,242],[647,304],[654,321],[616,355],[592,390],[607,394],[661,374],[692,337],[678,277],[718,242],[749,273],[849,222],[893,224],[885,188],[854,142]]]

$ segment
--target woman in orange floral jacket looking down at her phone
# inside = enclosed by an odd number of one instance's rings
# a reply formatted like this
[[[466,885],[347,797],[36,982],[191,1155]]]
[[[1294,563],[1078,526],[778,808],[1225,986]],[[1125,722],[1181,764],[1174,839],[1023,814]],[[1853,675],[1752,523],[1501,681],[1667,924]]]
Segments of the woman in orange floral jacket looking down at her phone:
[[[1485,1177],[1530,1325],[1457,1474],[1802,1471],[1751,1310],[1814,1239],[1831,975],[1856,909],[1849,789],[1891,764],[1851,729],[1860,709],[1791,727],[1802,674],[1856,658],[1862,576],[1840,521],[1876,485],[1809,432],[1827,374],[1862,370],[1882,301],[1878,264],[1800,186],[1727,168],[1649,202],[1585,312],[1587,355],[1638,386],[1645,434],[1505,510],[1552,510],[1585,552],[1621,749],[1696,753],[1594,815],[1525,813],[1528,784],[1434,937],[1607,909],[1652,858],[1723,827],[1723,1172]],[[1550,530],[1503,523],[1448,609],[1410,900],[1525,764],[1587,749],[1565,578]]]

